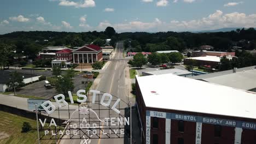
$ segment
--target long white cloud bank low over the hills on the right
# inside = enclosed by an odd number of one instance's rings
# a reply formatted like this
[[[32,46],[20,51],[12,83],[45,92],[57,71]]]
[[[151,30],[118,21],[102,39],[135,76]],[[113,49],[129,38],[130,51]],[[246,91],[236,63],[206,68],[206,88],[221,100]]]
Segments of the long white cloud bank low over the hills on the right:
[[[158,18],[155,18],[152,22],[132,20],[130,22],[110,23],[103,21],[99,23],[97,29],[103,31],[108,26],[114,27],[118,32],[200,31],[225,27],[249,28],[256,27],[256,14],[246,15],[237,12],[224,14],[223,11],[216,10],[215,13],[207,17],[187,21],[172,20],[170,22],[164,22]]]

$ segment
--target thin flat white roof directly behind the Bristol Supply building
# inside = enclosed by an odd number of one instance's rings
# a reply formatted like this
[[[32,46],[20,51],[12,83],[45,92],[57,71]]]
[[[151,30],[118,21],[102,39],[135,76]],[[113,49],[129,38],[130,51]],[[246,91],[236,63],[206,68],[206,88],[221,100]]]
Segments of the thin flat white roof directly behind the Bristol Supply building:
[[[181,69],[165,69],[165,70],[156,70],[156,71],[143,71],[143,73],[151,75],[163,75],[163,74],[174,74],[174,75],[188,75],[191,74],[188,70]]]

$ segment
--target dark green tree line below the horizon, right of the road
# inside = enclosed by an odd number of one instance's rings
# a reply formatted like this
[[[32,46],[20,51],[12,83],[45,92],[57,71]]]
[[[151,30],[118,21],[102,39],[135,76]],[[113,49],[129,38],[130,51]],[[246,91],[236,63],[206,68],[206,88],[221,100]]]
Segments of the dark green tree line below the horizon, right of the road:
[[[158,32],[158,33],[120,33],[125,39],[126,49],[130,46],[135,52],[155,52],[165,50],[198,49],[201,45],[211,45],[215,51],[231,51],[232,46],[244,50],[256,48],[256,31],[254,28],[236,29],[231,32],[191,33],[191,32]]]

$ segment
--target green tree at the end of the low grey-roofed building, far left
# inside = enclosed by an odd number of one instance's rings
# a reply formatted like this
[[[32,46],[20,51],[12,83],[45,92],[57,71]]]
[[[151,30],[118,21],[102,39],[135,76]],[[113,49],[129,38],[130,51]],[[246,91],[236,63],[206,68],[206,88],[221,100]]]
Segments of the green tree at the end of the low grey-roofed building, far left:
[[[6,85],[9,87],[9,89],[19,88],[25,85],[22,79],[22,75],[20,75],[17,71],[14,71],[14,73],[10,74],[10,79],[6,83]]]

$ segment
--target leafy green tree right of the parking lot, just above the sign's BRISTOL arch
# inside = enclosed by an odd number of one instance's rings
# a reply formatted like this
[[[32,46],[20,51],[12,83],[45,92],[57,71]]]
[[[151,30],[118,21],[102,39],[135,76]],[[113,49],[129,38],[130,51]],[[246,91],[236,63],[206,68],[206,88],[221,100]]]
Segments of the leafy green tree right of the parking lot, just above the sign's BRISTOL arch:
[[[68,97],[68,91],[73,91],[74,89],[74,82],[68,75],[61,75],[57,77],[56,83],[56,91],[58,93],[64,94],[65,97]]]

